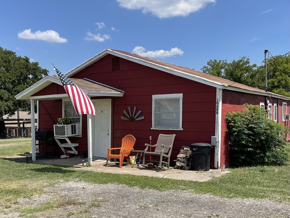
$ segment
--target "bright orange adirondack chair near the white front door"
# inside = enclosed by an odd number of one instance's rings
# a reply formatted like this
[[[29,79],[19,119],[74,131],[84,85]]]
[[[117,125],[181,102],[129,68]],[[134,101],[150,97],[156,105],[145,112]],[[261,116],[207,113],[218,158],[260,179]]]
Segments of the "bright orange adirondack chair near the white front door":
[[[133,149],[133,146],[135,144],[135,137],[132,135],[126,135],[124,138],[122,138],[122,145],[120,148],[108,148],[108,155],[107,155],[107,164],[106,167],[108,166],[108,160],[109,158],[117,158],[120,160],[120,165],[119,167],[122,167],[122,163],[124,158],[129,159],[129,154],[131,152],[131,150]],[[112,150],[117,150],[120,149],[120,153],[119,154],[111,154]]]

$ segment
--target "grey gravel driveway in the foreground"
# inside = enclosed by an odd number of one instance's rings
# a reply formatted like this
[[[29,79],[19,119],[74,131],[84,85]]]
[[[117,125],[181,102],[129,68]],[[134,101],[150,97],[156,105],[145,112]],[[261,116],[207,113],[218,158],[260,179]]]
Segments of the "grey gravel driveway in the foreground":
[[[16,206],[40,206],[53,198],[85,204],[63,205],[35,217],[275,217],[290,218],[290,203],[271,200],[228,199],[190,190],[158,191],[119,184],[90,184],[79,181],[46,189],[42,196],[20,199]],[[15,206],[15,207],[16,207]],[[1,214],[18,217],[20,213]]]

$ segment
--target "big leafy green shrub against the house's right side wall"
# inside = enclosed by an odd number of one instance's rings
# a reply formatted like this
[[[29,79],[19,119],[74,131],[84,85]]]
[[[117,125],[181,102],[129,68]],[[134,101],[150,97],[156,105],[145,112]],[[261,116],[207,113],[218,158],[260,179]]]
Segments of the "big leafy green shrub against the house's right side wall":
[[[244,111],[227,112],[230,165],[282,165],[289,161],[288,127],[269,121],[266,110],[244,104]]]

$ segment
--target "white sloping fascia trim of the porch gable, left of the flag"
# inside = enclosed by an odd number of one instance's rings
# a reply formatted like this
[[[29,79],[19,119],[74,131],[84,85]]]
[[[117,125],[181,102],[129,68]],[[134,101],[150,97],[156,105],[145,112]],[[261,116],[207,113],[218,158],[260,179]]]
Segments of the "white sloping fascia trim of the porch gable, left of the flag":
[[[14,97],[16,98],[16,100],[30,100],[31,95],[37,93],[38,91],[40,91],[41,89],[47,87],[52,83],[62,85],[60,80],[46,76],[43,77],[41,80],[37,81],[36,83],[34,83],[33,85],[31,85],[30,87],[24,89],[22,92],[15,95]]]

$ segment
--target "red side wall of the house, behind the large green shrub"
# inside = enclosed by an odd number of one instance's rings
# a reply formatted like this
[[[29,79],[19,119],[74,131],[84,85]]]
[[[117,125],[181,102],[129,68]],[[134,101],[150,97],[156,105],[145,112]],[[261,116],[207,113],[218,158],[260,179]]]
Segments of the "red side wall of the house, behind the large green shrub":
[[[229,135],[225,132],[225,129],[227,127],[226,126],[227,112],[228,111],[235,112],[235,111],[244,110],[243,104],[245,103],[259,105],[260,102],[265,102],[265,97],[266,96],[263,96],[263,95],[247,94],[243,92],[223,90],[222,115],[221,115],[221,163],[220,163],[221,168],[228,167],[229,162],[230,162],[230,154],[229,154],[229,147],[228,147]],[[289,101],[281,100],[274,97],[267,97],[267,100],[269,100],[269,103],[272,103],[273,108],[274,108],[274,104],[275,103],[277,104],[278,122],[284,123],[289,126],[288,124],[289,120],[286,121],[287,123],[282,122],[282,102],[287,102],[287,111],[289,112]]]

